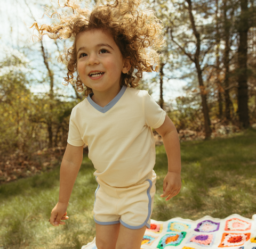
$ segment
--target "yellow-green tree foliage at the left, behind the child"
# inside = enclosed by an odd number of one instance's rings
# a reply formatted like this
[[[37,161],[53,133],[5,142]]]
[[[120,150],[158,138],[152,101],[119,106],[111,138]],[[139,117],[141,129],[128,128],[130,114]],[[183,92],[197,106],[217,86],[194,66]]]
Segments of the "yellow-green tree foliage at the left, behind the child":
[[[22,152],[47,147],[47,129],[51,122],[54,146],[66,143],[72,101],[61,101],[61,96],[35,95],[30,92],[29,61],[17,51],[6,48],[0,65],[0,151]],[[52,108],[50,108],[52,106]]]

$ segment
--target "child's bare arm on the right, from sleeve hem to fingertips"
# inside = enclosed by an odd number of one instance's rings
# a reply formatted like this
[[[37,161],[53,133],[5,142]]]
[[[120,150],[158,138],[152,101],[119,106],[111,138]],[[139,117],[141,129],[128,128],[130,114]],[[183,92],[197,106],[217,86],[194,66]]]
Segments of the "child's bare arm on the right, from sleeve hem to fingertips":
[[[163,143],[168,158],[168,172],[164,178],[164,193],[161,195],[161,197],[167,196],[165,200],[168,201],[173,196],[178,195],[181,189],[179,136],[173,122],[167,115],[162,126],[155,130],[163,138]]]

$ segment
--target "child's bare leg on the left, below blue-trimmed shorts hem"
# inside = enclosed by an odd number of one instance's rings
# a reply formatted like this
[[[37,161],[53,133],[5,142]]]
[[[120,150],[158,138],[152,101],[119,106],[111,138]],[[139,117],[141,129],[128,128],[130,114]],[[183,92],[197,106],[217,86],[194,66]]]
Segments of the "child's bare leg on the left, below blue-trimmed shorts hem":
[[[98,249],[115,249],[119,234],[120,223],[114,225],[96,226],[96,246]]]

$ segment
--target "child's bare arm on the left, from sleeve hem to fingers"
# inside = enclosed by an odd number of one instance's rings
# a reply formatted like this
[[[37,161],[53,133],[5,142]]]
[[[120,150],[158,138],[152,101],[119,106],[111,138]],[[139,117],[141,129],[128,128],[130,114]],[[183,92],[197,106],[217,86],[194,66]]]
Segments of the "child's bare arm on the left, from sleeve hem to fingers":
[[[64,225],[67,220],[67,207],[69,198],[83,160],[83,146],[67,144],[60,167],[60,193],[59,202],[53,208],[50,223],[53,226]]]

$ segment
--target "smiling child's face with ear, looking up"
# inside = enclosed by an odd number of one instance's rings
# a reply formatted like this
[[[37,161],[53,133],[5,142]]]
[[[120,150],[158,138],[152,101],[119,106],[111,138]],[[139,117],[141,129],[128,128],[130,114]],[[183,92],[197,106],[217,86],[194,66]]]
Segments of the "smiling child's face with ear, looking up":
[[[95,29],[78,34],[77,69],[83,84],[93,93],[120,90],[121,73],[127,73],[130,62],[124,59],[113,37]]]

